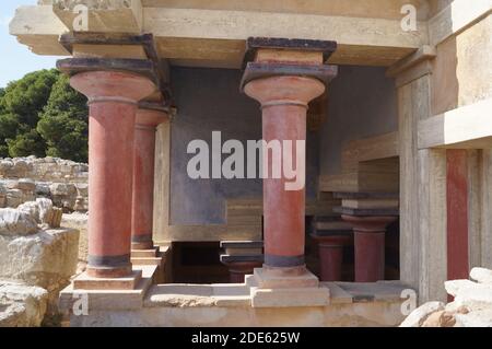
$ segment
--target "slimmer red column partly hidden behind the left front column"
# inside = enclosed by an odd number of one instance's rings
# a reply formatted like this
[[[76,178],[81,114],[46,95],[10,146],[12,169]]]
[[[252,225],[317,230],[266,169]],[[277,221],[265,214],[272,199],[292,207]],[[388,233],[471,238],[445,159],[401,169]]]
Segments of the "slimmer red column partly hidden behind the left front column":
[[[167,113],[159,109],[137,110],[133,154],[133,195],[131,210],[131,248],[150,249],[154,209],[154,159],[156,126],[167,121]]]

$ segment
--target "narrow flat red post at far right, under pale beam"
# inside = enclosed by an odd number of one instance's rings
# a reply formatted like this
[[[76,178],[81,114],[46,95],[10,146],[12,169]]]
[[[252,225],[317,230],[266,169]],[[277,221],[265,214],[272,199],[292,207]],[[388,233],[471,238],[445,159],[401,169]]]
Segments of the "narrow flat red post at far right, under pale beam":
[[[447,279],[468,279],[468,160],[467,151],[446,151]]]

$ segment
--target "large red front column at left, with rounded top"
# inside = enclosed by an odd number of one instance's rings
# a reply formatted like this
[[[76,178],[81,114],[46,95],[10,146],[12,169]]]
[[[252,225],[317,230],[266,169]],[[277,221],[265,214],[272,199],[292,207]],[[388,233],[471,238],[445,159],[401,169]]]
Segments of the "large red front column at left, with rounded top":
[[[128,276],[137,103],[155,86],[147,78],[115,71],[78,73],[70,83],[90,105],[87,275]]]

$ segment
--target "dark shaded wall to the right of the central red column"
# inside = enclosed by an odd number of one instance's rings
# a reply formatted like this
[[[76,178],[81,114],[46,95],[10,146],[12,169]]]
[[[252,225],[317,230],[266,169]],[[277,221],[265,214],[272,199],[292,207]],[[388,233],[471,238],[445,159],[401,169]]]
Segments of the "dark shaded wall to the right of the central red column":
[[[319,133],[320,175],[339,174],[348,141],[398,129],[395,82],[385,68],[339,67],[328,91],[328,115]]]

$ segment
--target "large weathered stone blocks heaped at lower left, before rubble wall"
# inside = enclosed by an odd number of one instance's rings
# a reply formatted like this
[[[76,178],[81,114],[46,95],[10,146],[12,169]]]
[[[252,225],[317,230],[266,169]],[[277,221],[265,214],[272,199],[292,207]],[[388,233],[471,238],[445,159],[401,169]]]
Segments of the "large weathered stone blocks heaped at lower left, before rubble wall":
[[[56,318],[79,248],[79,232],[60,228],[61,217],[46,198],[0,208],[0,327]]]

